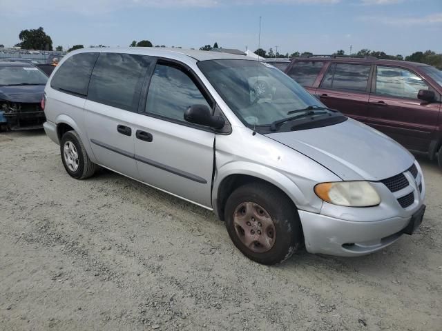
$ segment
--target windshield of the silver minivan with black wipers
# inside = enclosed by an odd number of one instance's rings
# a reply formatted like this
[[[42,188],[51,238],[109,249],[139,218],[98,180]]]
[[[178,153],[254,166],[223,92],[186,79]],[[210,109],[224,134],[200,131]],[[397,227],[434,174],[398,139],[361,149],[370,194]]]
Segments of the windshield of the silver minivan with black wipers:
[[[268,63],[207,60],[198,67],[242,123],[257,131],[296,130],[294,126],[305,121],[311,128],[324,116],[343,117]]]

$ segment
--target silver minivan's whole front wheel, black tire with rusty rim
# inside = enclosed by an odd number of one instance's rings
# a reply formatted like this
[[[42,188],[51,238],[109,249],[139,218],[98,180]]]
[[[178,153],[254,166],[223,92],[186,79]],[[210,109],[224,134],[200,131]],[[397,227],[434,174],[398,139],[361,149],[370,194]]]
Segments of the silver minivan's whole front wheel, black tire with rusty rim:
[[[294,203],[272,185],[240,186],[227,199],[225,214],[233,243],[258,263],[281,263],[302,243],[302,227]]]

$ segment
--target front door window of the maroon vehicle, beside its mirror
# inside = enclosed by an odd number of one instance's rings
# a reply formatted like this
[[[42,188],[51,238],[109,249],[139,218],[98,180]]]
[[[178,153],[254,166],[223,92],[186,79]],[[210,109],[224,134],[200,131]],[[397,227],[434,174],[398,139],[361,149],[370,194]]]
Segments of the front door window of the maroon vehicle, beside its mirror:
[[[428,86],[416,74],[401,68],[377,67],[376,94],[417,99],[419,90],[428,90]]]

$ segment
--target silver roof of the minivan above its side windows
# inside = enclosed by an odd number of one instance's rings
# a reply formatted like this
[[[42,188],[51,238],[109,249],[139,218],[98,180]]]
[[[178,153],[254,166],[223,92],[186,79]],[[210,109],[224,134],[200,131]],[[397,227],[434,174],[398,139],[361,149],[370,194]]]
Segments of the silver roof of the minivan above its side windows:
[[[241,59],[255,60],[244,55],[235,55],[222,52],[209,52],[205,50],[185,50],[183,48],[157,48],[157,47],[129,47],[129,48],[83,48],[76,52],[115,52],[115,53],[136,53],[151,55],[153,57],[168,57],[168,55],[182,54],[197,61],[219,60],[219,59]]]

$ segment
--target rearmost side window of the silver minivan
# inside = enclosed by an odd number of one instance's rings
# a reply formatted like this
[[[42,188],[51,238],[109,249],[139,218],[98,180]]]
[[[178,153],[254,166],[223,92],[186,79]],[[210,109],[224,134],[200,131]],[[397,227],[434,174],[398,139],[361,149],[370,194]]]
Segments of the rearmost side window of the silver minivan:
[[[86,96],[90,73],[99,53],[80,53],[67,59],[55,72],[50,86],[75,94]]]

